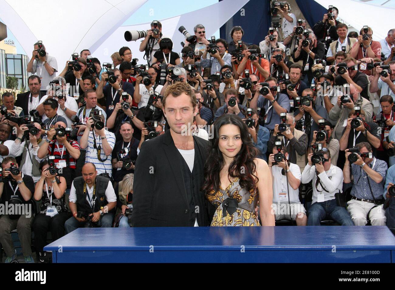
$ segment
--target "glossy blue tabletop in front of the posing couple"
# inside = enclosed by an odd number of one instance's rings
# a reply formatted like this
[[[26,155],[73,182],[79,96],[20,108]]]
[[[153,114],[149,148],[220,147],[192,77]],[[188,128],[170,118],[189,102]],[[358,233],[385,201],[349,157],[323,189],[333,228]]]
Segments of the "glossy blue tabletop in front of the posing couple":
[[[46,251],[395,250],[386,226],[257,226],[78,228],[50,243]]]

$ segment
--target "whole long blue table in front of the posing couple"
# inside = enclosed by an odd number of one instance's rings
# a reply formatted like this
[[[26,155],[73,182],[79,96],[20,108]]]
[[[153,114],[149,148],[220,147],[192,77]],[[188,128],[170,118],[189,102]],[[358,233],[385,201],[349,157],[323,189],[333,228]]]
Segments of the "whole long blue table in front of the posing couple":
[[[79,228],[53,262],[395,262],[386,226]]]

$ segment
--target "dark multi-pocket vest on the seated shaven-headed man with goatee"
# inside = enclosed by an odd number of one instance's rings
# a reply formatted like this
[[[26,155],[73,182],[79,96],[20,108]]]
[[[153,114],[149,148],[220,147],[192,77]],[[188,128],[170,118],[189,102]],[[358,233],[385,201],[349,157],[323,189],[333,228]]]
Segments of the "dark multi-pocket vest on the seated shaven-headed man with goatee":
[[[84,194],[84,179],[82,176],[79,176],[74,179],[74,187],[75,187],[75,195],[77,196],[77,210],[78,211],[84,211],[85,213],[92,213],[99,211],[100,208],[104,207],[108,202],[107,198],[105,197],[105,190],[107,189],[108,186],[108,181],[110,181],[108,178],[105,178],[103,176],[96,176],[96,201],[94,205],[94,209],[90,206],[88,200],[87,200],[87,193]],[[88,186],[87,186],[87,192],[88,192]]]

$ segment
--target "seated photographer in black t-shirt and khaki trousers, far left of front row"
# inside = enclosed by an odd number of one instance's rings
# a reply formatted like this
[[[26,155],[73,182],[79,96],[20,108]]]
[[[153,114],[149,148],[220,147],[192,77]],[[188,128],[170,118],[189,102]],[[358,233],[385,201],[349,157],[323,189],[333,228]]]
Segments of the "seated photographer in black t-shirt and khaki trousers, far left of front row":
[[[11,163],[14,164],[13,171],[19,171],[19,174],[12,174]],[[17,252],[14,248],[11,238],[11,231],[15,228],[18,231],[18,236],[21,241],[22,252],[25,263],[34,263],[32,257],[31,241],[32,241],[32,222],[34,219],[34,210],[32,208],[32,193],[34,193],[34,182],[31,176],[23,174],[18,170],[18,164],[14,157],[9,156],[5,158],[1,164],[3,168],[3,179],[0,182],[0,198],[3,202],[10,202],[17,196],[17,201],[13,202],[14,206],[25,209],[23,214],[14,213],[13,215],[3,214],[0,216],[0,243],[6,252],[6,263],[10,263],[17,257]],[[16,172],[14,172],[16,173]],[[20,206],[20,207],[19,207]],[[22,210],[23,211],[23,210]]]

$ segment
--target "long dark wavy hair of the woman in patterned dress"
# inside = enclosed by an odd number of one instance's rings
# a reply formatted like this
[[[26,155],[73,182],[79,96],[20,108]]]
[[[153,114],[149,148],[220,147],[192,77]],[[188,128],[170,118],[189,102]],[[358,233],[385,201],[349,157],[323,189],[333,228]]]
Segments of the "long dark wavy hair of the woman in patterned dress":
[[[254,174],[256,166],[254,158],[258,155],[258,149],[252,145],[251,137],[248,133],[248,127],[240,117],[232,114],[220,116],[214,122],[214,138],[211,139],[211,148],[207,155],[207,162],[204,168],[204,181],[201,190],[209,194],[214,190],[218,191],[220,186],[220,171],[224,167],[224,158],[218,147],[219,129],[226,124],[236,125],[240,128],[240,135],[243,144],[241,150],[234,157],[229,166],[229,176],[239,178],[239,184],[242,188],[250,191],[254,189],[258,182],[258,176]]]

